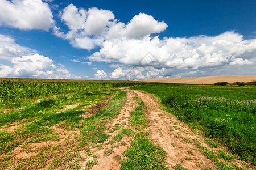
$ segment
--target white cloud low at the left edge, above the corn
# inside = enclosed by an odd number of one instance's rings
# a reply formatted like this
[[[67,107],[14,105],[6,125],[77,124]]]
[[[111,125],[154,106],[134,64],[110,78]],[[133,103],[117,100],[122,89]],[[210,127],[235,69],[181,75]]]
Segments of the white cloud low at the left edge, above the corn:
[[[5,35],[0,35],[0,59],[9,63],[0,64],[0,77],[81,79],[70,74],[64,65],[16,44],[13,38]]]

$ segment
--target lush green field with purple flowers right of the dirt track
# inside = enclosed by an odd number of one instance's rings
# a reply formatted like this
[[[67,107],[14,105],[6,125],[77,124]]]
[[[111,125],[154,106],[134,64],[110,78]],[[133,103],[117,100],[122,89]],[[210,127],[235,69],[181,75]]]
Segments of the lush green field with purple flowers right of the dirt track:
[[[256,87],[148,84],[133,89],[154,94],[179,120],[256,165]]]

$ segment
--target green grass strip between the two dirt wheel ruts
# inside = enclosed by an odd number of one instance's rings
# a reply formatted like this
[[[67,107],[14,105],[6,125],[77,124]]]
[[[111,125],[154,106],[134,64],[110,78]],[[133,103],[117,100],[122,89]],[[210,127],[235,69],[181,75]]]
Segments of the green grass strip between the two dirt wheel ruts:
[[[131,129],[121,129],[122,134],[134,137],[131,147],[123,153],[127,159],[123,159],[121,169],[168,169],[165,162],[166,152],[150,141],[147,137],[148,131],[142,132],[148,126],[148,121],[144,115],[146,112],[144,103],[137,95],[135,95],[134,100],[139,105],[130,113],[129,124],[137,133]]]

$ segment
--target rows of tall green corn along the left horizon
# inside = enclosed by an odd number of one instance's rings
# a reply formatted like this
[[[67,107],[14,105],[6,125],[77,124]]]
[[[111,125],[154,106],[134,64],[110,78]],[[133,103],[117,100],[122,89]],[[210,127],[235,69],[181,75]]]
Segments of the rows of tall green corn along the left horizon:
[[[89,90],[100,90],[102,88],[126,87],[142,84],[141,82],[73,82],[73,81],[24,81],[24,80],[1,80],[0,102],[19,101],[32,97],[43,97],[70,92],[82,92]],[[145,84],[145,83],[143,83]]]

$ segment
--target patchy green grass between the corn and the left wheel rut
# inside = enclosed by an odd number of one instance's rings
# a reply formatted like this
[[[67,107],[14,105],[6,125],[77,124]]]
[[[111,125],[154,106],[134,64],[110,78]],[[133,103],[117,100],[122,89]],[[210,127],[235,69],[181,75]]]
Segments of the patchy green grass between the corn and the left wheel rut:
[[[105,96],[114,96],[109,101],[109,105],[101,108],[91,117],[84,118],[81,116],[89,109],[82,109],[83,106],[100,103],[102,99],[105,99]],[[20,124],[20,127],[13,132],[0,131],[0,169],[7,169],[10,165],[13,165],[14,169],[81,169],[79,160],[84,158],[81,158],[79,152],[84,150],[89,155],[90,148],[98,147],[100,143],[109,138],[109,135],[105,133],[106,122],[119,114],[125,97],[125,91],[111,88],[76,92],[34,102],[30,101],[26,107],[18,111],[0,114],[1,126],[11,126],[13,121]],[[82,106],[61,111],[65,105],[77,102]],[[68,135],[60,137],[52,126],[63,128],[67,132],[80,129],[80,134],[74,135],[73,138]],[[131,132],[126,130],[126,133]],[[60,139],[64,139],[64,141],[58,143],[57,141]],[[51,145],[52,141],[56,141],[54,142],[56,144]],[[36,150],[28,145],[29,143],[40,142],[49,142],[49,145],[39,147]],[[17,162],[13,156],[8,155],[18,146],[25,151],[36,152],[37,154]],[[51,161],[49,162],[49,160]],[[94,164],[97,164],[96,159],[89,162],[86,168],[90,169]]]

